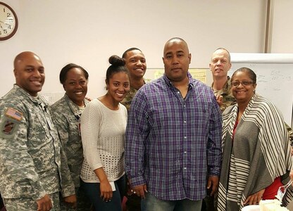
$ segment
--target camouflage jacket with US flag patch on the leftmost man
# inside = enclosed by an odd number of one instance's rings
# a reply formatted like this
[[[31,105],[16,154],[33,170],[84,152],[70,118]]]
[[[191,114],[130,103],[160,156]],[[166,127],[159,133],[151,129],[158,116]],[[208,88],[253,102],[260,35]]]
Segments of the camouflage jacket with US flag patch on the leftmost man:
[[[32,198],[61,191],[75,194],[51,111],[40,96],[14,84],[0,99],[0,192],[3,198]]]

